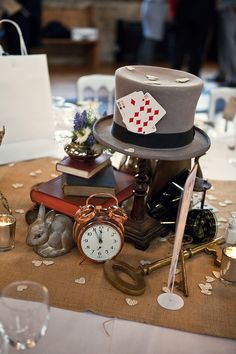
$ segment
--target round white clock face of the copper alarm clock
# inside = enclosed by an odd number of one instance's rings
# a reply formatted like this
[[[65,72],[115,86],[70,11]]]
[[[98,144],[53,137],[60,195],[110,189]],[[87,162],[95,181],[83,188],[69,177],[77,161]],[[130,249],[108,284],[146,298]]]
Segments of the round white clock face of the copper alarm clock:
[[[82,252],[97,262],[115,257],[120,252],[122,243],[118,228],[109,222],[91,223],[80,239]]]

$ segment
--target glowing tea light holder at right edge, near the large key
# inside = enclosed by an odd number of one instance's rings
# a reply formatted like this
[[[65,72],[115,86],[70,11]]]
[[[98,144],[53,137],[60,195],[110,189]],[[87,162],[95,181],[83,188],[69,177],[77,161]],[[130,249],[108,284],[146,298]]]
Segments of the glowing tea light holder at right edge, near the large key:
[[[223,281],[236,283],[236,246],[223,249],[220,278]]]

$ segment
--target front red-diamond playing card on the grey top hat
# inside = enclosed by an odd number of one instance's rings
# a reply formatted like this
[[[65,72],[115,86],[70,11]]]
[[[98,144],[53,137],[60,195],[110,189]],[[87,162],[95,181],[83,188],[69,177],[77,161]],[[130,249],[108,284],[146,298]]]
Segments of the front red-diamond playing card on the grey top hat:
[[[125,115],[123,121],[127,129],[137,134],[156,132],[156,124],[165,115],[164,108],[150,93],[123,97]],[[129,109],[127,107],[129,106]]]

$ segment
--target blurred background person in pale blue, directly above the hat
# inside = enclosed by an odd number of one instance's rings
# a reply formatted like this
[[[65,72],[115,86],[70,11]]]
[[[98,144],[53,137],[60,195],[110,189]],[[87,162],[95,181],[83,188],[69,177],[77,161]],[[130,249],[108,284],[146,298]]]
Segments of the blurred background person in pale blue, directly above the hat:
[[[166,8],[166,0],[144,0],[141,4],[143,39],[138,51],[139,64],[155,62],[158,47],[164,38]]]

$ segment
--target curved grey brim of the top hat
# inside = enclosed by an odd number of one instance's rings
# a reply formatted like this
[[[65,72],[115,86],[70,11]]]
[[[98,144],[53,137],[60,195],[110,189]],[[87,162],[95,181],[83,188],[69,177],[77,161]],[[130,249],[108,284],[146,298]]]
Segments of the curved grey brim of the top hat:
[[[134,144],[128,144],[116,139],[111,134],[113,116],[100,118],[94,125],[94,137],[100,144],[109,147],[125,155],[150,160],[188,160],[193,157],[204,155],[210,148],[211,142],[208,135],[201,129],[195,128],[193,141],[183,147],[175,149],[153,149]]]

